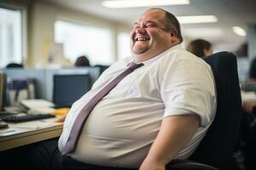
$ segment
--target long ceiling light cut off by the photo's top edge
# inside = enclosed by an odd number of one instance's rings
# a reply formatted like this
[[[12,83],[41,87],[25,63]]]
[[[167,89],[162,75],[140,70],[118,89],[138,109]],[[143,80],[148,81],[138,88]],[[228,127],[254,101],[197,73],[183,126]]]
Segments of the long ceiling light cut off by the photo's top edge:
[[[189,3],[189,0],[119,0],[103,1],[102,5],[108,8],[136,8],[150,6],[182,5]]]

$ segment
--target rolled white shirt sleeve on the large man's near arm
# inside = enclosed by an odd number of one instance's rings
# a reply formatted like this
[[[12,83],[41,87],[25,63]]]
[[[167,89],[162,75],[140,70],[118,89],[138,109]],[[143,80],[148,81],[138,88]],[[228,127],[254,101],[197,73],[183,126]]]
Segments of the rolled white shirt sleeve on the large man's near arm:
[[[215,82],[212,70],[202,60],[180,59],[168,65],[160,90],[164,117],[196,114],[206,127],[215,114]]]

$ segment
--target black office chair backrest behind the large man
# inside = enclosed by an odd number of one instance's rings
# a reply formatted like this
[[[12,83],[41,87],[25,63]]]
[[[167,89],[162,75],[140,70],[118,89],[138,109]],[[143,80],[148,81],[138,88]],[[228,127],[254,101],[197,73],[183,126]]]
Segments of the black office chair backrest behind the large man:
[[[236,56],[228,52],[205,59],[212,67],[217,88],[217,113],[201,144],[189,160],[229,169],[241,122],[241,92]]]

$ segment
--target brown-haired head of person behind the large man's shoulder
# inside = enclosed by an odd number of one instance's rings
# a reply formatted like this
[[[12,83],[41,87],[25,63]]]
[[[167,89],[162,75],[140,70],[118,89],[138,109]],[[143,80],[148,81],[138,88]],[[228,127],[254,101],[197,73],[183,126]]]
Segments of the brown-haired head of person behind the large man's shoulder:
[[[204,58],[212,54],[212,43],[203,39],[196,39],[189,43],[187,50],[197,57]]]

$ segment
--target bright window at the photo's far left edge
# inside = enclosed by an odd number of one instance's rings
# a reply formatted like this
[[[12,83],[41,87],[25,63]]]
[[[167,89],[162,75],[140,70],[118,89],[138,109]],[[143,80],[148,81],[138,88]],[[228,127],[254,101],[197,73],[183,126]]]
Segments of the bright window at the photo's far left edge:
[[[0,8],[0,67],[22,62],[21,11]]]

